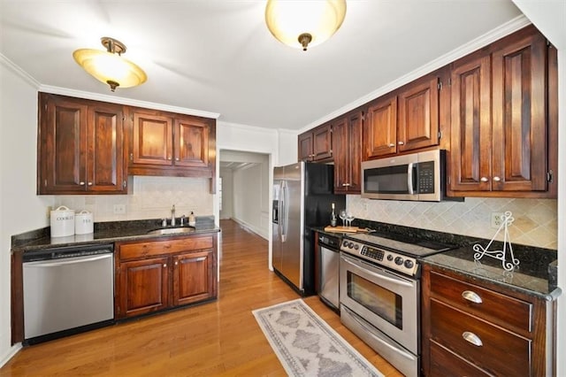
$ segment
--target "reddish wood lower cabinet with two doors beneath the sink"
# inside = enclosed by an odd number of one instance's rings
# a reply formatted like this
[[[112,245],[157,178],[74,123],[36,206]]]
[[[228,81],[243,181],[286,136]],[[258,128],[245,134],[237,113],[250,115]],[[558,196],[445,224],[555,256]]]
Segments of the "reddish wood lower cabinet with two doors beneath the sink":
[[[216,298],[217,235],[116,244],[116,319]]]

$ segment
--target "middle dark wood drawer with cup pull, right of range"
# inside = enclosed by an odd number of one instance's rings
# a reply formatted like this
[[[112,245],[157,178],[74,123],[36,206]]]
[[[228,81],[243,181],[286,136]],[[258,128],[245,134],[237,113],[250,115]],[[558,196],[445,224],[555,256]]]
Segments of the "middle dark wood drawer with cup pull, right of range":
[[[431,300],[431,339],[489,373],[530,375],[532,341]],[[464,339],[476,337],[478,345]]]

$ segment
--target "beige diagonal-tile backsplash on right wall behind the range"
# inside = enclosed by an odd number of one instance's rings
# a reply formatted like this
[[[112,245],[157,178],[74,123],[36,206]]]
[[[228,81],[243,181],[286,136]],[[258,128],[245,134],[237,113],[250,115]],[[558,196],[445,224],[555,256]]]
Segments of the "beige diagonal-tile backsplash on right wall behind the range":
[[[509,227],[511,244],[557,249],[557,201],[555,199],[512,199],[467,197],[464,202],[401,202],[347,196],[348,210],[358,219],[420,227],[439,232],[491,239],[492,212],[513,213]],[[503,241],[503,231],[497,237]]]

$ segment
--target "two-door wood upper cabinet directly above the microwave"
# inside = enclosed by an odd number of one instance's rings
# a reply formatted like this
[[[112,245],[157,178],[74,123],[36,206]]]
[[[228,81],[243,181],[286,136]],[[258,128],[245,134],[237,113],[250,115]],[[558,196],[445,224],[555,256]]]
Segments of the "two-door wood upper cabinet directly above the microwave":
[[[440,72],[372,101],[363,126],[363,160],[439,144]]]

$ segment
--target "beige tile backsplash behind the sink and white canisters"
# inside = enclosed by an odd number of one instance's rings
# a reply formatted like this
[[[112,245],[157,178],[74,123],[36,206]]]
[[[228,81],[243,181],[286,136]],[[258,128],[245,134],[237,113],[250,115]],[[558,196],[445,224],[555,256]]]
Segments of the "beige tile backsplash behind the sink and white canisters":
[[[55,196],[54,205],[93,212],[95,222],[171,218],[173,204],[177,217],[213,214],[208,178],[134,176],[128,183],[128,195]],[[114,213],[115,205],[125,205],[126,212]]]

